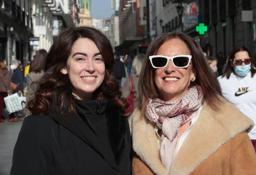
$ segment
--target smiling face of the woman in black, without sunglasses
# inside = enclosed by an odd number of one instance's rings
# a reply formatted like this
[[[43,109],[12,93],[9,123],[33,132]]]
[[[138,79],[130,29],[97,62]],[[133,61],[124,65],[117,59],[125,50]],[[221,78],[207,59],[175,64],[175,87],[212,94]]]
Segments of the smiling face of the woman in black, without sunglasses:
[[[105,63],[95,43],[88,38],[78,39],[61,73],[68,75],[74,96],[82,100],[92,99],[105,76]]]

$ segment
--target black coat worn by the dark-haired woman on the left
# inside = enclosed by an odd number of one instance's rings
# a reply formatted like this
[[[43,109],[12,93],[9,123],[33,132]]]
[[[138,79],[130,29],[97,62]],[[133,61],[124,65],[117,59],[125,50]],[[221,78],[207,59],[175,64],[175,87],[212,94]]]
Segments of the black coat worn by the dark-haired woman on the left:
[[[110,101],[105,118],[112,152],[106,151],[77,113],[71,119],[67,116],[26,117],[14,148],[11,175],[131,174],[131,134],[127,118],[120,116]]]

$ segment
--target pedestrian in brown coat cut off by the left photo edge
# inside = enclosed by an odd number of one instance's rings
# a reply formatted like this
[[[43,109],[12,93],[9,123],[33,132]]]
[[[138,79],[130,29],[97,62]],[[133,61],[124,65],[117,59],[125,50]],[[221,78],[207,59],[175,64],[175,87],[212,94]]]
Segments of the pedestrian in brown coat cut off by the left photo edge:
[[[12,94],[12,87],[10,86],[11,74],[7,68],[5,60],[0,61],[0,123],[4,122],[3,119],[3,110],[5,107],[4,98],[8,94]]]

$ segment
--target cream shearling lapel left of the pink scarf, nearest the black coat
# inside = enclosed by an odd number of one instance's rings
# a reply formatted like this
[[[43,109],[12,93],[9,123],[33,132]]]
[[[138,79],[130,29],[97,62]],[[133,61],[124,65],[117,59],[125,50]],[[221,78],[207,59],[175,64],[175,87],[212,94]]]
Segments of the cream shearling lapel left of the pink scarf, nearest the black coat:
[[[132,116],[133,149],[156,174],[168,174],[163,166],[154,125],[139,110]]]

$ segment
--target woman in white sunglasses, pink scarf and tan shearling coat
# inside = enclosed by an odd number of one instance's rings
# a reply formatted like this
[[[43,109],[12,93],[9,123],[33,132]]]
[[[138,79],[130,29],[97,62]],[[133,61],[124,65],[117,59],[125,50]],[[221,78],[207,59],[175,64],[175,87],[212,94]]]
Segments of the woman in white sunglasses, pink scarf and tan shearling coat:
[[[253,122],[225,101],[200,46],[183,33],[151,42],[132,115],[133,174],[255,174]]]

